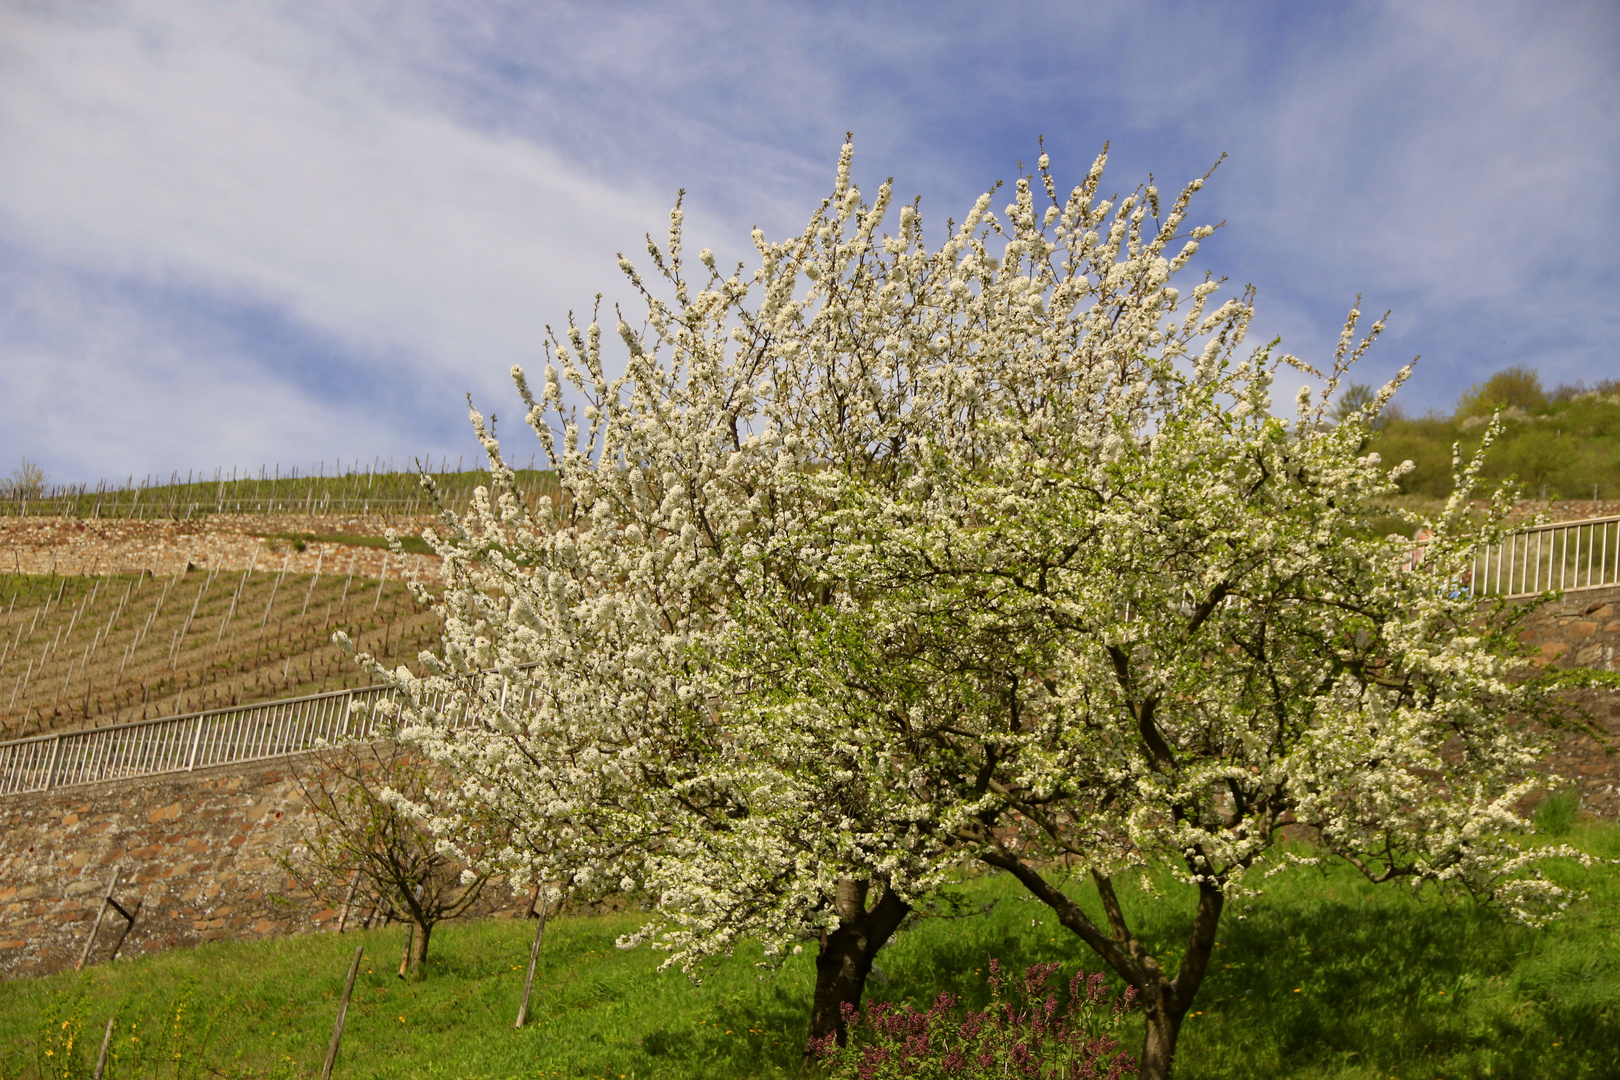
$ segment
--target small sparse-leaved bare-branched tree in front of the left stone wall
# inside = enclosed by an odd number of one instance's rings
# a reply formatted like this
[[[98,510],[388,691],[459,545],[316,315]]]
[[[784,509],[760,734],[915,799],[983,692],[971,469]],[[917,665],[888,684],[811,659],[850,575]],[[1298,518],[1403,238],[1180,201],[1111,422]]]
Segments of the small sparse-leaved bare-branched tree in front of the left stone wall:
[[[282,868],[329,905],[358,899],[408,923],[408,967],[421,972],[433,928],[467,912],[489,879],[441,850],[420,818],[442,772],[400,743],[377,740],[321,750],[296,779],[314,824],[279,858]]]

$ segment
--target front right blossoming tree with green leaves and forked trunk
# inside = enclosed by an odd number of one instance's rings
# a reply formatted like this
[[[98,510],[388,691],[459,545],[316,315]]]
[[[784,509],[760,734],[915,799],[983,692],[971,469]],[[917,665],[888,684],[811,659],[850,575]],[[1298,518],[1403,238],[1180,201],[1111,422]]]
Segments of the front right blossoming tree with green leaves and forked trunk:
[[[800,693],[912,746],[933,827],[1140,991],[1144,1077],[1170,1075],[1228,900],[1301,861],[1286,827],[1312,858],[1526,923],[1570,899],[1537,871],[1550,852],[1513,837],[1565,717],[1526,670],[1521,612],[1461,588],[1505,507],[1482,526],[1458,494],[1413,568],[1411,541],[1367,534],[1393,478],[1361,452],[1366,427],[1272,418],[1264,376],[1249,359],[1166,390],[1186,411],[1089,458],[1030,439],[1004,471],[936,458],[910,499],[844,484],[828,565],[862,602],[813,640],[750,643],[815,657]],[[907,708],[873,722],[852,695]],[[1121,874],[1162,868],[1196,889],[1174,965],[1116,895]]]

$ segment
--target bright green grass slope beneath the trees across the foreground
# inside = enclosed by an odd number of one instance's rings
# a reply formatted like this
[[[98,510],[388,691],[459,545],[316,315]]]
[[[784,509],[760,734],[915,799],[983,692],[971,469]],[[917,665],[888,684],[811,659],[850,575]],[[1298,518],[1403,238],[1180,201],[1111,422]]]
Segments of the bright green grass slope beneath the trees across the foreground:
[[[1571,842],[1620,855],[1620,829],[1576,824]],[[1212,975],[1183,1033],[1178,1077],[1502,1080],[1620,1075],[1620,871],[1557,866],[1591,891],[1545,931],[1503,925],[1466,902],[1374,887],[1338,868],[1294,868],[1231,908]],[[969,882],[988,913],[925,918],[878,959],[870,996],[927,1002],[940,989],[985,1001],[983,965],[1097,962],[1006,878]],[[1092,904],[1087,889],[1076,889]],[[1137,916],[1144,894],[1126,891]],[[1184,897],[1174,895],[1174,900]],[[1094,910],[1095,905],[1092,904]],[[1174,912],[1142,920],[1153,949],[1174,949]],[[220,942],[84,975],[0,984],[0,1077],[87,1075],[40,1069],[42,1031],[71,1031],[89,1062],[109,1010],[131,1023],[147,1062],[120,1041],[109,1080],[313,1075],[355,944],[366,962],[334,1075],[360,1077],[799,1077],[812,962],[779,972],[744,954],[701,986],[658,973],[658,955],[620,952],[633,915],[552,923],[536,978],[535,1027],[515,1031],[531,923],[450,925],[420,981],[394,975],[400,928]],[[78,1020],[75,1020],[78,1017]],[[66,1022],[68,1028],[62,1028]],[[1128,1033],[1137,1044],[1139,1030]],[[62,1056],[47,1059],[63,1061]],[[159,1070],[159,1064],[162,1065]]]

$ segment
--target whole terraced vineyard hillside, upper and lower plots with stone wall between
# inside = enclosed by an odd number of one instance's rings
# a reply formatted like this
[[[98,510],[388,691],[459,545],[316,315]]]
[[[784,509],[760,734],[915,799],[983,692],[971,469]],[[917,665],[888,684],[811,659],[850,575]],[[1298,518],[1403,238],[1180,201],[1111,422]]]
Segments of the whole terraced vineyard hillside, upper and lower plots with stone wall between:
[[[11,563],[0,578],[0,738],[360,685],[337,630],[411,662],[437,641],[403,581],[429,555],[411,533],[439,508],[465,510],[488,483],[463,465],[49,484],[24,463],[0,483]],[[531,504],[557,499],[548,471],[520,470],[517,487]],[[387,528],[403,534],[403,557],[387,554]]]

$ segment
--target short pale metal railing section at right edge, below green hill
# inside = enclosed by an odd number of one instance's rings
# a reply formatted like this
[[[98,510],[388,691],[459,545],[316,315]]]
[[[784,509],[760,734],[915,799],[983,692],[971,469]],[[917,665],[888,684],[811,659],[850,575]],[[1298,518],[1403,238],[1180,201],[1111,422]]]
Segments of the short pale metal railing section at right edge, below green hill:
[[[1469,596],[1536,596],[1620,585],[1620,517],[1510,533],[1474,557]]]

